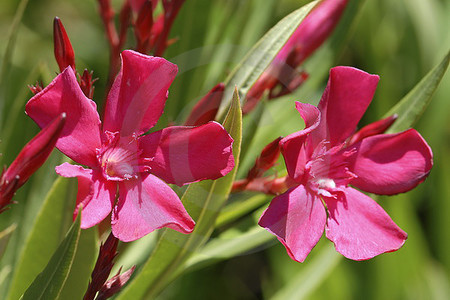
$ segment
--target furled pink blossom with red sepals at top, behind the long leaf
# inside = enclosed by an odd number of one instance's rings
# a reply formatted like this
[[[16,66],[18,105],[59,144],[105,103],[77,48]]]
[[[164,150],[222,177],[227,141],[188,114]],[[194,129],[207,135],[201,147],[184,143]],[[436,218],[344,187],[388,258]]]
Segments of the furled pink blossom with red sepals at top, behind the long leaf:
[[[323,0],[300,23],[247,93],[243,112],[250,112],[269,91],[269,99],[288,94],[298,88],[308,74],[297,68],[330,36],[341,19],[348,0]]]

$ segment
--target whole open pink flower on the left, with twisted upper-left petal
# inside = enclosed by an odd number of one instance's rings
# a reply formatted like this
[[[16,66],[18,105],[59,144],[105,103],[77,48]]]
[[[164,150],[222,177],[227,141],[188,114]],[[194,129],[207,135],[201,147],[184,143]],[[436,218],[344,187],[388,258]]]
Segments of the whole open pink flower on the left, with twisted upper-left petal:
[[[67,113],[56,147],[90,169],[64,163],[56,172],[78,178],[74,214],[82,207],[82,228],[98,224],[112,211],[112,232],[122,241],[161,227],[189,233],[194,221],[166,183],[183,185],[227,174],[234,167],[232,138],[215,122],[144,135],[163,112],[177,66],[129,50],[121,59],[103,122],[70,67],[27,103],[26,112],[41,127],[61,111]]]

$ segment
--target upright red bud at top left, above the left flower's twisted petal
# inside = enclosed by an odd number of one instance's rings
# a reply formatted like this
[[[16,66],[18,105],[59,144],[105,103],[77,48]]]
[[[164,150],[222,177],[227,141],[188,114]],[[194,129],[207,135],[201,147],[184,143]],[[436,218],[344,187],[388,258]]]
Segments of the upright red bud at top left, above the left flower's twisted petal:
[[[53,20],[53,41],[56,62],[62,72],[68,66],[75,71],[75,54],[66,30],[58,17]]]

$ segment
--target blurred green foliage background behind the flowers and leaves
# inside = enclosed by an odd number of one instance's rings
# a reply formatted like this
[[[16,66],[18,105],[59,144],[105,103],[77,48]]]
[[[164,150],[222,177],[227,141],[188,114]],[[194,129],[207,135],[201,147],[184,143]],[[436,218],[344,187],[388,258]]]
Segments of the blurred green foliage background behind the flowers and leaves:
[[[121,0],[113,3],[119,7]],[[181,123],[189,108],[223,81],[250,47],[278,20],[308,1],[186,0],[172,29],[178,41],[165,57],[180,72],[170,88],[162,123]],[[362,123],[382,117],[450,48],[450,1],[365,0],[351,2],[330,40],[305,64],[311,74],[293,95],[267,103],[259,130],[240,174],[257,153],[279,135],[301,129],[293,102],[316,104],[335,65],[351,65],[381,77]],[[53,58],[52,22],[61,18],[75,50],[78,71],[94,70],[94,100],[102,103],[108,70],[108,45],[94,0],[29,0],[11,32],[19,1],[0,1],[0,125],[2,164],[9,165],[37,133],[24,114],[32,96],[27,85],[44,85],[58,72]],[[12,33],[12,40],[11,40]],[[10,54],[7,45],[12,42]],[[133,45],[130,38],[129,45]],[[6,59],[5,59],[6,57]],[[175,281],[161,299],[449,299],[450,298],[450,75],[444,76],[433,101],[415,128],[434,152],[428,179],[415,190],[378,200],[408,233],[404,247],[365,262],[329,251],[324,238],[305,263],[289,259],[272,241],[251,253],[193,271]],[[246,120],[250,124],[251,116]],[[363,125],[363,124],[361,124]],[[244,132],[245,135],[245,132]],[[22,220],[20,245],[39,199],[56,177],[61,160],[55,151],[44,167],[19,191],[18,204],[0,216],[0,229]],[[68,203],[68,210],[73,203]],[[323,249],[323,250],[321,250]],[[5,254],[14,256],[14,254]],[[7,285],[0,273],[1,289]],[[294,291],[294,292],[293,292]],[[286,294],[283,294],[286,293]]]

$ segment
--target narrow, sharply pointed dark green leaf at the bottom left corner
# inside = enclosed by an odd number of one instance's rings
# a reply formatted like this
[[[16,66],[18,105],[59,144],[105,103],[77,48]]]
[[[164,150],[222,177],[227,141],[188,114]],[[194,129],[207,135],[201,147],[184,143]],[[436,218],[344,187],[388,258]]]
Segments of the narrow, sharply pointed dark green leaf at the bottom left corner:
[[[59,299],[77,251],[80,230],[80,217],[78,217],[44,271],[25,291],[21,297],[22,300]]]

